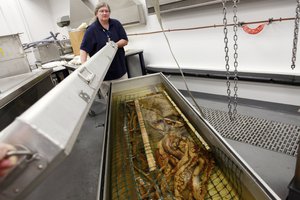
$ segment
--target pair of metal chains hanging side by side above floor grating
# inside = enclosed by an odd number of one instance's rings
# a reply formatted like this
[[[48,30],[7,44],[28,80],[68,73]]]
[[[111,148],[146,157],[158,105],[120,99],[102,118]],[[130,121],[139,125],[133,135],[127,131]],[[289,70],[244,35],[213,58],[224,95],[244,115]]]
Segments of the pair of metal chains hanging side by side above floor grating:
[[[234,26],[233,26],[233,31],[234,31],[234,102],[233,102],[233,110],[232,110],[232,101],[231,101],[231,89],[230,89],[230,66],[229,66],[229,48],[228,48],[228,29],[227,29],[227,7],[226,7],[226,1],[227,0],[222,0],[222,4],[223,4],[223,25],[224,25],[224,43],[225,43],[225,68],[226,68],[226,85],[227,85],[227,99],[228,99],[228,115],[230,120],[234,120],[236,117],[236,113],[237,113],[237,91],[238,91],[238,71],[237,71],[237,67],[238,67],[238,62],[237,62],[237,58],[238,58],[238,53],[237,53],[237,49],[238,49],[238,45],[237,45],[237,28],[238,28],[238,20],[237,20],[237,0],[233,0],[234,4],[233,4],[233,12],[234,12],[234,16],[233,16],[233,21],[234,21]],[[300,0],[299,0],[300,1]]]

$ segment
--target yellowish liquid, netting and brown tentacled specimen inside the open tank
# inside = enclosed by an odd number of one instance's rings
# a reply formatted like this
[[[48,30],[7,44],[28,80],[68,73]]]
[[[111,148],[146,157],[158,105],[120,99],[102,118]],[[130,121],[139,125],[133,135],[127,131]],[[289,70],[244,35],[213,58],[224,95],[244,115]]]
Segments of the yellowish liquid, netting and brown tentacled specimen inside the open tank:
[[[113,95],[111,199],[240,199],[241,171],[161,85]]]

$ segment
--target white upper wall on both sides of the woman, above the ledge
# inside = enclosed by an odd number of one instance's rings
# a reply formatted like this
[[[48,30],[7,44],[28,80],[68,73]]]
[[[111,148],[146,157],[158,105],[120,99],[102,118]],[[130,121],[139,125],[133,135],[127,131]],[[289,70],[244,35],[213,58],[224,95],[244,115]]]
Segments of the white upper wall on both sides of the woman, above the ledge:
[[[145,0],[140,1],[146,10]],[[59,17],[70,14],[69,4],[70,0],[0,0],[0,34],[23,32],[22,42],[41,40],[49,36],[50,31],[60,32],[60,36],[68,37],[68,28],[58,27],[56,21]],[[247,22],[294,17],[295,6],[294,0],[241,0],[238,20]],[[228,23],[232,23],[232,9],[228,10]],[[156,16],[146,16],[146,25],[126,27],[127,33],[160,30]],[[222,24],[222,19],[221,4],[162,15],[166,30]],[[296,69],[290,68],[293,30],[294,21],[274,22],[257,35],[249,35],[239,28],[239,71],[299,75],[300,50]],[[229,51],[232,53],[232,27],[229,27],[229,31]],[[168,32],[167,36],[182,68],[225,69],[222,28]],[[126,48],[143,49],[146,65],[176,68],[162,33],[130,36],[129,40]],[[230,61],[232,66],[232,56]]]

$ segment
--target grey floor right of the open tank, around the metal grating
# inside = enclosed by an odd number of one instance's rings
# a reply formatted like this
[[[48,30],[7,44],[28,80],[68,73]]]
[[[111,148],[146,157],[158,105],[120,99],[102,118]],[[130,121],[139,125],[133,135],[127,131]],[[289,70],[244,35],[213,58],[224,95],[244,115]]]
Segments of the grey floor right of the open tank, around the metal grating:
[[[185,95],[191,101],[191,98]],[[227,101],[213,100],[195,95],[196,102],[201,107],[211,108],[218,111],[228,112]],[[192,103],[193,104],[193,103]],[[255,104],[255,103],[254,103]],[[239,104],[238,114],[256,119],[264,119],[273,123],[281,123],[284,126],[297,126],[299,135],[300,114],[290,112],[279,112],[256,105]],[[249,127],[248,127],[249,128]],[[238,131],[236,130],[238,134]],[[263,130],[262,130],[263,131]],[[276,132],[276,131],[275,131]],[[288,133],[288,132],[287,132]],[[222,135],[222,133],[221,133]],[[298,138],[299,139],[299,138]],[[280,153],[267,148],[261,148],[245,142],[239,142],[225,138],[225,140],[236,150],[236,152],[254,169],[254,171],[270,186],[270,188],[281,198],[288,196],[288,185],[295,173],[296,157]]]

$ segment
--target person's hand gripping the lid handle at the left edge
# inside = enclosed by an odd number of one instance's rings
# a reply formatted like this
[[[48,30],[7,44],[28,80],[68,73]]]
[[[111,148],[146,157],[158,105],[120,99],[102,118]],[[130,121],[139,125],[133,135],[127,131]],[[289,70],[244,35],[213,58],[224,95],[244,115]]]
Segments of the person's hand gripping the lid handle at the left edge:
[[[5,176],[17,162],[16,156],[6,157],[6,153],[11,150],[15,150],[12,145],[0,143],[0,177]]]

